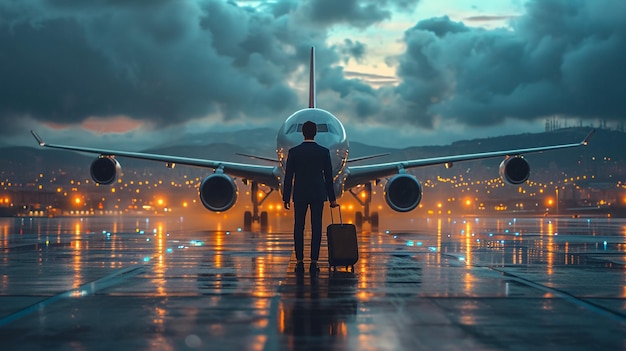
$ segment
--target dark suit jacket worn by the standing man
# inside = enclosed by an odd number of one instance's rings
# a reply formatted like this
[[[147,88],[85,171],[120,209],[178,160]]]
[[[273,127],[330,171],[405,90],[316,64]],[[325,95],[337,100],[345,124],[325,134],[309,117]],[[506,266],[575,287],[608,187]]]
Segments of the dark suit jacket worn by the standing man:
[[[315,142],[303,142],[289,150],[283,185],[283,201],[335,201],[330,152]]]

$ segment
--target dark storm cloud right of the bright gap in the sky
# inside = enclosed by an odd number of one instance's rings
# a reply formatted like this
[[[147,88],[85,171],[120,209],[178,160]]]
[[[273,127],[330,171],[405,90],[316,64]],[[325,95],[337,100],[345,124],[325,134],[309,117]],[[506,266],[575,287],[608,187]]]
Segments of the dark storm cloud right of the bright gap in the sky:
[[[550,115],[626,117],[626,2],[536,0],[512,30],[447,17],[405,33],[397,118],[491,125]]]

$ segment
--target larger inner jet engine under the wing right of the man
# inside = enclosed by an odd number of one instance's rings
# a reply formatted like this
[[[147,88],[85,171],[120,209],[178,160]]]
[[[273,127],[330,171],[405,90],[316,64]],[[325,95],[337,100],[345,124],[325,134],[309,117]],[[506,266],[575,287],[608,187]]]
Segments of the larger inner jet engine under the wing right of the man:
[[[394,211],[411,211],[421,200],[422,186],[412,175],[397,174],[385,185],[385,201]]]

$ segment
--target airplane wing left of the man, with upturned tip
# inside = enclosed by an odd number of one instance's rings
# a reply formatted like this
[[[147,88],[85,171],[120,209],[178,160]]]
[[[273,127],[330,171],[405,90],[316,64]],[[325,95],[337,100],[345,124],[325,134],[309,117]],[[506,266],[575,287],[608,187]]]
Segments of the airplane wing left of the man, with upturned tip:
[[[42,147],[70,150],[70,151],[77,151],[77,152],[85,152],[85,153],[91,153],[91,154],[99,154],[101,156],[120,156],[120,157],[128,157],[128,158],[134,158],[134,159],[140,159],[140,160],[161,161],[161,162],[165,162],[166,165],[170,168],[173,168],[175,164],[212,168],[215,171],[221,170],[222,172],[229,174],[231,176],[234,176],[234,177],[240,177],[240,178],[244,178],[244,179],[248,179],[252,181],[257,181],[273,189],[278,189],[280,186],[278,183],[278,175],[280,174],[279,173],[280,170],[278,166],[261,166],[261,165],[245,164],[245,163],[214,161],[214,160],[159,155],[159,154],[150,154],[150,153],[142,153],[142,152],[128,152],[128,151],[119,151],[119,150],[96,149],[96,148],[79,147],[79,146],[48,144],[44,142],[43,139],[35,131],[31,130],[31,134],[35,137],[35,139],[39,143],[39,146],[42,146]]]

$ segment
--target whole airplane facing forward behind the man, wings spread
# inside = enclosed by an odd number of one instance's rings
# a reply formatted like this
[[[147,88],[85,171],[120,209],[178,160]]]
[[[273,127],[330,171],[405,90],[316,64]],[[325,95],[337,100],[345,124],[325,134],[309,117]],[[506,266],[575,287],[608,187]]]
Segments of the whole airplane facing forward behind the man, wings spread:
[[[272,191],[281,188],[287,152],[291,147],[302,142],[302,124],[306,121],[313,121],[317,123],[318,127],[318,134],[315,140],[327,147],[331,153],[337,197],[340,197],[345,191],[350,192],[364,207],[363,212],[356,213],[355,224],[360,226],[366,221],[376,228],[378,226],[378,213],[370,213],[369,210],[372,182],[379,182],[381,179],[386,178],[384,197],[387,204],[395,211],[407,212],[417,207],[422,198],[422,186],[413,175],[406,173],[406,170],[409,168],[436,164],[444,164],[446,167],[451,167],[454,162],[459,161],[504,157],[500,164],[500,176],[506,183],[521,184],[528,179],[530,174],[530,167],[523,154],[587,145],[587,141],[593,133],[593,131],[589,133],[583,141],[572,144],[352,166],[349,165],[352,162],[371,159],[381,155],[348,159],[348,139],[343,125],[331,113],[316,107],[314,77],[315,51],[314,48],[311,48],[309,107],[295,112],[280,127],[276,141],[277,160],[256,157],[273,162],[274,165],[271,166],[55,145],[45,143],[34,131],[32,134],[40,146],[99,154],[100,156],[91,164],[91,177],[100,184],[111,184],[120,174],[121,167],[115,158],[116,156],[161,161],[165,162],[166,166],[170,168],[177,163],[212,168],[214,173],[207,176],[199,188],[202,204],[211,211],[226,211],[235,204],[238,191],[233,177],[240,177],[246,185],[251,185],[252,190],[250,193],[253,212],[246,211],[244,214],[244,227],[250,228],[253,221],[260,222],[261,227],[267,226],[267,212],[261,212],[259,215],[259,206]],[[258,195],[260,184],[264,184],[269,188],[269,190],[264,191],[264,196]],[[358,193],[352,190],[357,187],[359,188]],[[361,196],[357,196],[357,194],[361,194]]]

